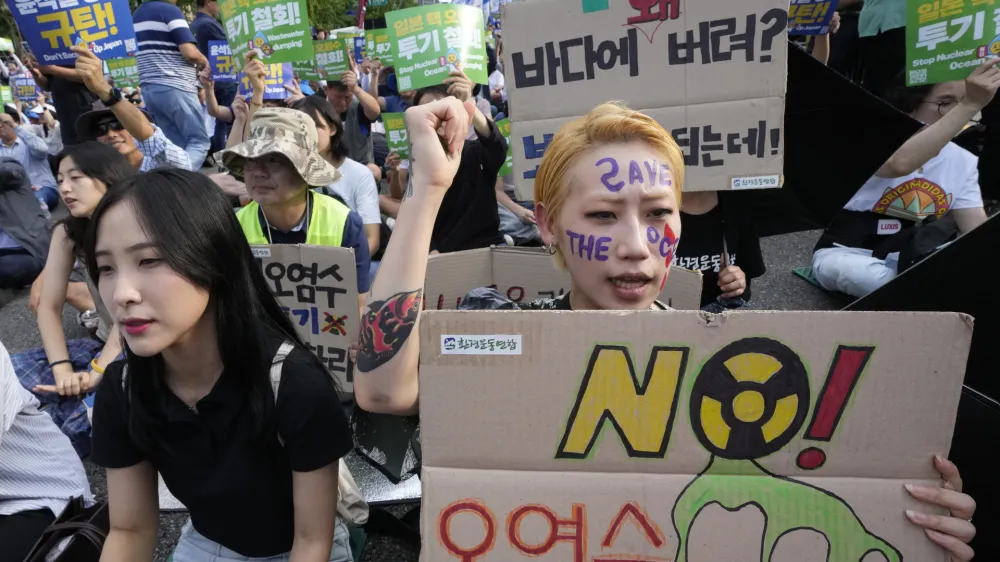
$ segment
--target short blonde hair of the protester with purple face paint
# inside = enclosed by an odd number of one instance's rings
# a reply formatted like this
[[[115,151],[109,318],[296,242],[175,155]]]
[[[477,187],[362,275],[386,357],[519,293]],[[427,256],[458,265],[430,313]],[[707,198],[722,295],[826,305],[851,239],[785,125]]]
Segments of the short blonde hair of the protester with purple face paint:
[[[681,187],[684,184],[684,154],[677,146],[677,141],[653,118],[631,110],[621,102],[601,104],[559,129],[545,150],[545,156],[535,175],[535,202],[544,205],[546,214],[553,220],[566,202],[569,169],[576,158],[596,146],[627,142],[644,142],[666,160],[677,204],[680,205]],[[559,267],[565,267],[566,263],[558,248],[555,259]]]

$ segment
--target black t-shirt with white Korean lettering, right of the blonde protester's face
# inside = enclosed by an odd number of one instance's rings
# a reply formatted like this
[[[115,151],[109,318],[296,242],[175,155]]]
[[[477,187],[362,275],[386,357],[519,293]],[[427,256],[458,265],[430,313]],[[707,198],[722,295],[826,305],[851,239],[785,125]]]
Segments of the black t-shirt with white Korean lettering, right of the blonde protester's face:
[[[724,206],[724,194],[719,204],[701,215],[681,212],[681,239],[677,243],[674,265],[701,271],[701,306],[722,295],[719,272],[722,270],[722,241],[725,239],[729,260],[743,270],[747,286],[741,295],[750,301],[751,279],[764,274],[764,257],[753,221],[739,212],[735,205]]]

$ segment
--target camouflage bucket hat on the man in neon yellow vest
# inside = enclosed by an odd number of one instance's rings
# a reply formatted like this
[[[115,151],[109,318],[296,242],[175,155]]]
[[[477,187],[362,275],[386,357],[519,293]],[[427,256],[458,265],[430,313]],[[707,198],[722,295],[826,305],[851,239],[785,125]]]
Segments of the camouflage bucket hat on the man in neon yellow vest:
[[[319,155],[318,139],[316,124],[305,113],[268,107],[254,113],[247,140],[217,153],[215,158],[243,181],[247,158],[281,154],[292,162],[306,183],[321,187],[340,181],[340,171]]]

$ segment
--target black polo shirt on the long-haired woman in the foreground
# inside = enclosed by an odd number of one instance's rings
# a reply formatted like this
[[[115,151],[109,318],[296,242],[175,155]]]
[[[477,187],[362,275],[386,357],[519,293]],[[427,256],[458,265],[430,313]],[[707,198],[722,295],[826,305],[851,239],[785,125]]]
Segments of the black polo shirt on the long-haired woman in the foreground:
[[[274,339],[268,356],[279,344]],[[277,438],[267,445],[255,439],[249,402],[236,375],[226,371],[198,402],[198,413],[169,390],[161,404],[148,409],[171,455],[148,454],[130,438],[121,383],[124,362],[112,363],[94,404],[94,462],[125,468],[150,460],[205,537],[248,557],[289,552],[295,527],[292,471],[325,467],[353,447],[333,379],[307,353],[296,348],[288,355],[271,410],[284,446]],[[141,376],[146,374],[129,373],[130,379]]]

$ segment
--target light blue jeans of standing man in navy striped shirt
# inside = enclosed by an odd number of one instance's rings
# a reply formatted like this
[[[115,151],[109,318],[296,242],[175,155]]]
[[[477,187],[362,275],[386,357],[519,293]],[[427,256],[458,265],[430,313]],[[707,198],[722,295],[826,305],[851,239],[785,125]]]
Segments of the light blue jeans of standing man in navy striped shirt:
[[[205,130],[198,94],[162,84],[142,84],[142,101],[170,142],[184,149],[197,171],[205,161],[211,141]]]

